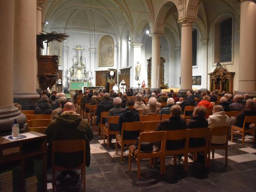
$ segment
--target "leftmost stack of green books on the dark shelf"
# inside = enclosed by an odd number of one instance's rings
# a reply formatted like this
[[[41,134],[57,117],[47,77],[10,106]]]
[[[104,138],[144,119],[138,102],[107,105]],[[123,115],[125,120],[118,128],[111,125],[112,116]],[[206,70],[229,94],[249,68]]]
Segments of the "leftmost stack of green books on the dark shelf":
[[[13,192],[12,170],[0,173],[0,192]]]

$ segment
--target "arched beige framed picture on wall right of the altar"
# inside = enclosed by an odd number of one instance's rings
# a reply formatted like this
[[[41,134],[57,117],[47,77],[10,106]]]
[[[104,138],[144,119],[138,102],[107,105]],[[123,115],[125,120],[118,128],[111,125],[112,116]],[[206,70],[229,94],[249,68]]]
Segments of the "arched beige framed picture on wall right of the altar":
[[[114,66],[114,40],[109,35],[104,35],[99,42],[98,67]]]

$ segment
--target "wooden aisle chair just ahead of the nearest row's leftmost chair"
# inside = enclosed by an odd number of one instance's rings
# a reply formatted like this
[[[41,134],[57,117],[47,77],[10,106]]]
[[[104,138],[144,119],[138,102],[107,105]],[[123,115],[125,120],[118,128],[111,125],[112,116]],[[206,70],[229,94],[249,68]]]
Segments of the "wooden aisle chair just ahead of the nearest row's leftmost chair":
[[[142,132],[142,122],[126,122],[122,124],[121,135],[116,134],[116,155],[117,155],[117,145],[121,146],[121,160],[123,161],[123,148],[124,144],[134,144],[136,138],[134,139],[124,139],[124,131],[139,131]]]

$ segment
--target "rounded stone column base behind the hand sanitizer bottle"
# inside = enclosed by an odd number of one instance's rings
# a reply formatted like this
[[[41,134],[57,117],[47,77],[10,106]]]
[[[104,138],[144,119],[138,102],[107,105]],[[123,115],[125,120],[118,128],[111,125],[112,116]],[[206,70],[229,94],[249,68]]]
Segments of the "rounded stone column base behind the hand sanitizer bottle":
[[[20,129],[26,123],[26,116],[15,106],[0,108],[0,134],[12,131],[12,124],[17,119]]]

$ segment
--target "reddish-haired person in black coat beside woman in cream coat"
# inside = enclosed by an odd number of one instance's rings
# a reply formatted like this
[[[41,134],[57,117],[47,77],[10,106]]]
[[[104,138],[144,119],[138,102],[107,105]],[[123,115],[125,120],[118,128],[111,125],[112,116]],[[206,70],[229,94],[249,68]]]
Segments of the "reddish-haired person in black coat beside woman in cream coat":
[[[208,127],[208,121],[205,119],[206,108],[199,106],[194,108],[193,117],[187,123],[187,129],[193,128],[206,128]],[[190,147],[198,147],[203,146],[205,144],[204,138],[190,138],[189,146]]]

